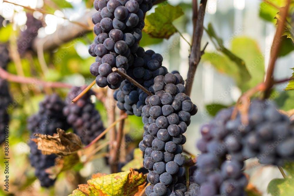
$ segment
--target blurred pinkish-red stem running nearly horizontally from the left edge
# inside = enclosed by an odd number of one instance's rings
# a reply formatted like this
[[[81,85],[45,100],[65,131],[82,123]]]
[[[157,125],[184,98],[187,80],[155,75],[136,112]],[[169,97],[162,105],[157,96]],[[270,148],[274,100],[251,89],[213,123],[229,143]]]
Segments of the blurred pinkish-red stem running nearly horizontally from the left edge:
[[[7,72],[1,67],[0,67],[0,78],[10,82],[31,84],[33,86],[40,84],[41,86],[52,87],[52,88],[71,88],[72,87],[72,85],[70,84],[65,84],[61,82],[47,82],[47,81],[38,80],[36,78],[31,78],[26,76],[17,76]]]

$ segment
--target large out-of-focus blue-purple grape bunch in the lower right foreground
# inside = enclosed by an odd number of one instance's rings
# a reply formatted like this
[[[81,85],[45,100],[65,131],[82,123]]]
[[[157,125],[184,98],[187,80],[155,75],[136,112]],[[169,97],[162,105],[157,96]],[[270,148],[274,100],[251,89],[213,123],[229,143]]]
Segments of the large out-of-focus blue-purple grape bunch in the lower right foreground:
[[[273,103],[254,100],[248,123],[242,123],[240,113],[231,118],[232,113],[233,108],[221,110],[201,128],[197,148],[202,154],[194,173],[201,195],[244,195],[244,159],[257,157],[262,164],[274,165],[294,160],[294,129]],[[230,161],[225,160],[227,154]]]

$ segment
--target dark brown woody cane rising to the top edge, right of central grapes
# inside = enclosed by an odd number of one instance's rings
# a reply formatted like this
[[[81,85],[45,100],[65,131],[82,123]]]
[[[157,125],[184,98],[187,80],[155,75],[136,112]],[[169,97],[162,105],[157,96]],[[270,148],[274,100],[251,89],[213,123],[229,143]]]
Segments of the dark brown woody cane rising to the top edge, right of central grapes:
[[[192,4],[193,4],[193,29],[194,30],[193,30],[191,53],[189,56],[189,70],[188,70],[187,80],[186,80],[185,93],[187,96],[190,96],[191,94],[196,68],[198,66],[198,63],[202,55],[200,47],[201,47],[201,38],[203,35],[203,20],[204,20],[207,0],[201,0],[199,11],[197,10],[197,0],[193,0]]]

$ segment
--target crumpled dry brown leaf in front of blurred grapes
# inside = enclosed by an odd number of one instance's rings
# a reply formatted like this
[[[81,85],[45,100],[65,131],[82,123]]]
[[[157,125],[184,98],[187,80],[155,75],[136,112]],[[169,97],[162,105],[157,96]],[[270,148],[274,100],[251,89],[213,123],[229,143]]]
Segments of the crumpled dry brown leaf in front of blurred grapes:
[[[65,133],[64,130],[57,128],[57,135],[34,134],[38,138],[32,139],[38,145],[38,149],[44,155],[71,155],[81,149],[82,142],[78,135]]]

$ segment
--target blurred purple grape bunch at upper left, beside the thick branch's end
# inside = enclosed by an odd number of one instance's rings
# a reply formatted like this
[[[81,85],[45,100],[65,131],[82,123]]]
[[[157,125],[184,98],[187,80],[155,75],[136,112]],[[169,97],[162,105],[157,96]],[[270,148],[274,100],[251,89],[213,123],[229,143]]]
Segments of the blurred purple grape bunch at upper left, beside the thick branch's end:
[[[21,31],[17,41],[19,54],[31,49],[32,41],[38,35],[38,30],[43,27],[42,22],[35,19],[32,14],[26,13],[26,30]]]

